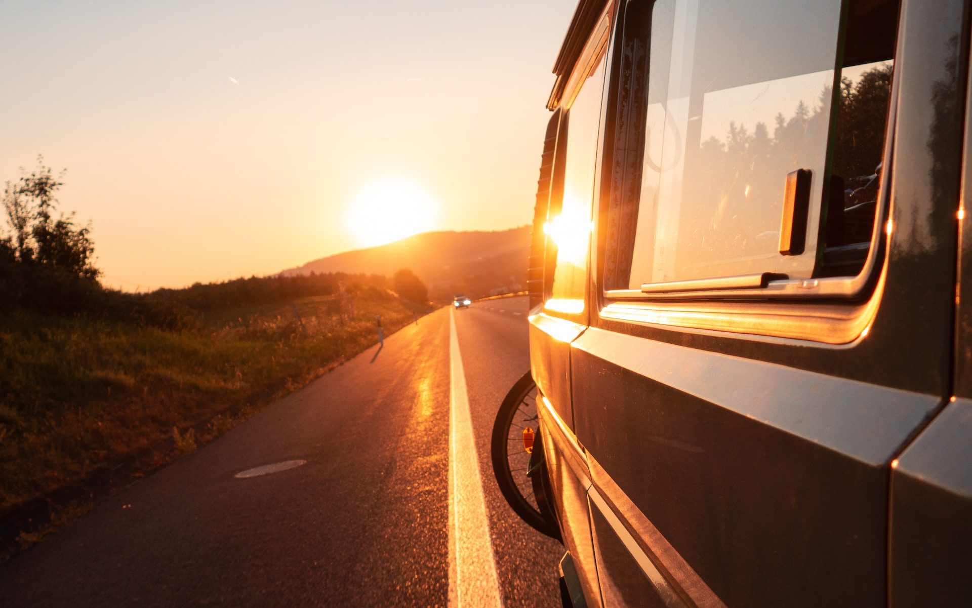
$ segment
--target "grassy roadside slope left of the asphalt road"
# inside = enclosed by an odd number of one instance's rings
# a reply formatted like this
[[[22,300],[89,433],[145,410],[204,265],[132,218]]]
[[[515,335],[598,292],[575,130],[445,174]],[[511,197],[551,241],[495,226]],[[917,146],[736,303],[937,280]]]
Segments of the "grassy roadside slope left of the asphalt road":
[[[354,306],[342,319],[335,296],[304,297],[209,311],[181,330],[0,316],[0,513],[162,443],[154,466],[190,454],[377,342],[376,315],[388,335],[415,312],[378,287],[358,290]],[[83,511],[59,505],[49,526]],[[23,532],[20,544],[49,532]]]

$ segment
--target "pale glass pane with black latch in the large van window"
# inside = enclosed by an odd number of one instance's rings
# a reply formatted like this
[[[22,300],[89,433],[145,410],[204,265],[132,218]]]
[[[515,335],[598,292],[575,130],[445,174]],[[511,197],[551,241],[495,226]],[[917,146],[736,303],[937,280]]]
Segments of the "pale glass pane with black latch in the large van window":
[[[659,0],[628,285],[812,276],[840,0]],[[804,253],[782,255],[788,173],[809,169]]]

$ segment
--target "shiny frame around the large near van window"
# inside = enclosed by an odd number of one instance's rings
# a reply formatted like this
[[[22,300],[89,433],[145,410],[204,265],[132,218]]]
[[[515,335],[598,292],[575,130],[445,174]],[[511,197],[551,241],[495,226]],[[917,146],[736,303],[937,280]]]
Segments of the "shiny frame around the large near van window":
[[[624,31],[623,23],[633,8],[647,10],[650,23],[650,11],[653,6],[654,0],[624,2],[618,17],[619,23],[615,27],[618,39],[612,46],[620,47],[626,44],[621,39],[620,33]],[[841,48],[845,43],[847,6],[848,0],[845,0],[842,32],[839,37]],[[902,23],[899,20],[898,33],[901,27]],[[644,38],[649,39],[649,37],[650,26]],[[613,54],[623,56],[624,52],[615,51]],[[889,219],[889,206],[899,90],[899,61],[897,61],[899,56],[901,56],[901,40],[898,35],[895,41],[895,62],[885,121],[885,143],[882,155],[885,170],[880,178],[870,248],[863,267],[857,275],[779,279],[765,273],[762,276],[746,276],[746,287],[733,285],[732,279],[739,279],[739,277],[716,277],[712,280],[646,284],[651,286],[648,292],[630,288],[607,289],[604,259],[607,257],[608,246],[612,245],[608,239],[608,226],[611,197],[615,196],[615,192],[610,189],[612,180],[602,180],[594,226],[596,247],[591,252],[591,266],[596,268],[591,278],[593,284],[591,293],[594,296],[591,298],[593,300],[591,308],[598,311],[600,318],[608,321],[745,333],[757,339],[791,338],[828,344],[847,344],[866,335],[880,304],[886,274],[887,241],[893,229],[893,223]],[[836,78],[841,78],[841,73],[842,71],[839,70]],[[611,149],[606,149],[604,152],[604,171],[606,174],[613,174],[614,171],[640,174],[642,157],[639,156],[636,162],[632,162],[631,158],[625,158],[624,153],[613,145],[614,141],[623,140],[618,137],[617,117],[613,110],[622,103],[621,95],[629,88],[626,86],[627,83],[614,82],[614,79],[620,76],[620,69],[612,66],[612,80],[608,84],[610,107],[606,113],[610,120],[605,127],[607,137],[603,138],[611,143]],[[832,121],[828,139],[833,137]],[[643,147],[642,132],[642,150]],[[828,174],[829,171],[828,164]],[[817,267],[819,267],[826,221],[821,219],[816,229],[820,237],[817,245]]]

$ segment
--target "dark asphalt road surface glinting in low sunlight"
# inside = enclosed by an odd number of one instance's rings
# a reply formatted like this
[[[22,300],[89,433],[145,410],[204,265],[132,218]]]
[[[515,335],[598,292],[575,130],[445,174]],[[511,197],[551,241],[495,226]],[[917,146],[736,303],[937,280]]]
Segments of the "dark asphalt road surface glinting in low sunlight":
[[[504,606],[559,606],[563,549],[510,511],[489,463],[496,410],[529,367],[526,314],[524,297],[454,313],[485,505],[478,546],[492,559],[462,570],[450,542],[475,527],[450,517],[443,309],[0,565],[0,606],[452,607],[457,567],[463,585],[495,581]],[[285,460],[305,463],[235,477]]]

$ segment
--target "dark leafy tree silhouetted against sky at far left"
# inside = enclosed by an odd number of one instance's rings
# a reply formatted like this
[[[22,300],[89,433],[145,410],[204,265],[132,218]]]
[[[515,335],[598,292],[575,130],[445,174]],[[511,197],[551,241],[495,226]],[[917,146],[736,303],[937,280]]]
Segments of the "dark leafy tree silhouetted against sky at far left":
[[[63,172],[56,178],[38,155],[37,169],[20,169],[17,182],[7,182],[3,206],[11,235],[0,239],[0,261],[40,266],[81,279],[95,280],[94,243],[90,224],[79,226],[74,214],[57,215],[54,194],[63,186]]]

